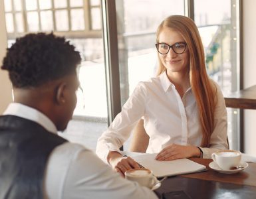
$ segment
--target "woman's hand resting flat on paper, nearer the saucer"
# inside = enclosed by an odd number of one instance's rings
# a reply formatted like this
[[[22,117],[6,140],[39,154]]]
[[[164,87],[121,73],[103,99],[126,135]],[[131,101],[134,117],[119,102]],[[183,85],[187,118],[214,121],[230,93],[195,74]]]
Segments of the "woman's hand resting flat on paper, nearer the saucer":
[[[164,148],[156,156],[158,161],[172,161],[190,157],[200,157],[200,150],[194,146],[183,146],[171,144]]]

